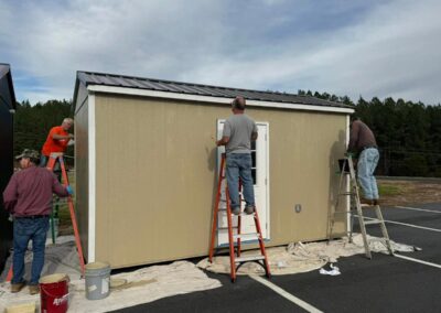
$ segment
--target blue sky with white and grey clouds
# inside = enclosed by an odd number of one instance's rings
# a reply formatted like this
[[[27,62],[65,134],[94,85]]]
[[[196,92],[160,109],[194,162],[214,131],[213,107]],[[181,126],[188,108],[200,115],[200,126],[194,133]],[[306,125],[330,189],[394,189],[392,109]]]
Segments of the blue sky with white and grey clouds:
[[[439,0],[0,0],[15,96],[72,99],[77,71],[441,102]]]

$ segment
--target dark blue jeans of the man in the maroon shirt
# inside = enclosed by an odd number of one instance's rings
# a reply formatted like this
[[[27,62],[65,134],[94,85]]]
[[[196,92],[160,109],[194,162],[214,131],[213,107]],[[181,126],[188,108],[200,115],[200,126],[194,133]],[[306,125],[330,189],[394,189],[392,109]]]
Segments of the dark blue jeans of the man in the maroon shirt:
[[[49,217],[41,218],[14,218],[13,223],[13,256],[12,256],[12,283],[23,282],[24,253],[28,244],[32,240],[32,271],[30,284],[39,284],[41,271],[44,266],[44,248]]]

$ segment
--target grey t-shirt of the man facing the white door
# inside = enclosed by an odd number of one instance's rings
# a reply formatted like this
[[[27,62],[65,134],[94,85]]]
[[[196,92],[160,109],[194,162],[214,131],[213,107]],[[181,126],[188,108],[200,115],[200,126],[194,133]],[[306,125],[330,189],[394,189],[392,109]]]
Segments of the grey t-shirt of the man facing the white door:
[[[229,137],[228,153],[250,153],[251,134],[257,133],[256,122],[245,114],[230,116],[224,125],[224,137]]]

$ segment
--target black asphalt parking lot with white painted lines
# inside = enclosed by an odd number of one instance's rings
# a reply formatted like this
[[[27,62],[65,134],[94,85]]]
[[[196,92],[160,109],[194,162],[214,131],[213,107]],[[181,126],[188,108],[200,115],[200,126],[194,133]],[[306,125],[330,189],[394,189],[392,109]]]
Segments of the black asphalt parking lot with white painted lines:
[[[318,270],[269,281],[207,272],[223,287],[118,312],[441,312],[441,203],[383,207],[389,237],[420,251],[340,258],[340,276]],[[367,233],[380,236],[378,225]],[[263,284],[263,282],[268,282]]]

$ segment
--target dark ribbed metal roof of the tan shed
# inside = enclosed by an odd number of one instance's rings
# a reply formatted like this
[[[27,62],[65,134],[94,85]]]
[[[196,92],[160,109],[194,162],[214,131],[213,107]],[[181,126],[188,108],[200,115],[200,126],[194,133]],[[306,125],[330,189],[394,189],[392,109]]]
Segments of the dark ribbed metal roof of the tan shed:
[[[295,105],[312,105],[312,106],[324,106],[324,107],[340,107],[340,108],[353,108],[352,106],[344,105],[342,102],[333,102],[323,99],[319,99],[311,96],[299,96],[294,94],[279,93],[279,91],[259,91],[240,88],[228,88],[218,87],[211,85],[180,83],[172,80],[141,78],[133,76],[104,74],[104,73],[92,73],[92,72],[77,72],[77,79],[85,86],[89,85],[103,85],[114,87],[126,87],[136,89],[148,89],[157,91],[168,91],[186,95],[197,96],[211,96],[219,98],[234,98],[236,96],[243,96],[249,100],[271,101],[271,102],[283,102],[283,104],[295,104]],[[78,82],[77,82],[78,83]],[[76,93],[76,91],[75,91]],[[75,99],[75,95],[74,95]]]

